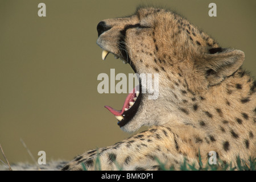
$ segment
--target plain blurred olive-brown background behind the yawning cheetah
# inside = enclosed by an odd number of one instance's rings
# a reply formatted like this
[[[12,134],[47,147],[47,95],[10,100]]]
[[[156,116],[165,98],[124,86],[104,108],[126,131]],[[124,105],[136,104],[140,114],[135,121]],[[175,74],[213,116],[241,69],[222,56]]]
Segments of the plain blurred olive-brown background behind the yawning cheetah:
[[[46,17],[38,4],[46,3]],[[208,5],[217,5],[217,17]],[[133,73],[96,45],[98,22],[131,15],[139,5],[175,10],[217,40],[245,52],[243,64],[255,70],[255,1],[79,1],[0,0],[0,143],[10,163],[36,159],[71,160],[130,134],[104,105],[121,109],[126,94],[99,94],[100,73]],[[0,159],[3,156],[0,154]]]

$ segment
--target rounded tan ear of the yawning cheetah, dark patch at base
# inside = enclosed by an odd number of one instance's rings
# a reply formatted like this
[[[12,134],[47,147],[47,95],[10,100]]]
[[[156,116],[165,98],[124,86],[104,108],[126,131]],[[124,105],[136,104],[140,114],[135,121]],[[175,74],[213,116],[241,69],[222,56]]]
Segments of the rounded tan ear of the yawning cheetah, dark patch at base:
[[[245,53],[240,50],[213,48],[204,55],[201,68],[205,72],[205,77],[209,86],[219,84],[226,77],[236,72],[245,60]]]

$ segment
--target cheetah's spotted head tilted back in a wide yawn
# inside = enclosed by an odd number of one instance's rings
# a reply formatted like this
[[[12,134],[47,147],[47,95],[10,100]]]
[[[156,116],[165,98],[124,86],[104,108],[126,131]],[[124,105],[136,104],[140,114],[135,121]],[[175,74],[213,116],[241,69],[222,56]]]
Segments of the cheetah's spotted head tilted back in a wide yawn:
[[[119,127],[129,132],[177,118],[187,122],[179,110],[186,97],[208,92],[236,72],[244,59],[242,51],[219,47],[186,19],[163,9],[142,8],[126,18],[105,19],[97,31],[102,59],[113,53],[135,73],[159,74],[158,99],[149,100],[140,87],[127,96],[122,110],[106,106]]]

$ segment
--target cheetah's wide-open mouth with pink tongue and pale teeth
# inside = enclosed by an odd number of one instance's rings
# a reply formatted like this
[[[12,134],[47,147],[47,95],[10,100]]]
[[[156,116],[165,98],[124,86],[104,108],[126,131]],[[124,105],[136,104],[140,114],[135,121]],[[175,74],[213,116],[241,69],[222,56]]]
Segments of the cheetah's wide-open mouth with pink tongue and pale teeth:
[[[102,60],[106,59],[106,56],[108,56],[110,52],[109,51],[102,51]],[[112,53],[112,52],[111,52]],[[113,53],[114,54],[114,53]],[[115,59],[118,59],[119,56],[114,54]],[[127,60],[124,60],[121,58],[124,64],[127,63]],[[129,61],[129,64],[134,69],[133,63]],[[136,71],[135,71],[136,73]],[[122,127],[125,126],[131,119],[134,117],[134,115],[137,113],[139,104],[141,102],[142,94],[141,94],[141,84],[135,86],[133,90],[128,94],[128,96],[125,99],[125,103],[123,104],[123,107],[121,110],[115,110],[113,107],[105,106],[106,109],[110,111],[110,113],[114,114],[115,118],[118,120],[118,126]]]

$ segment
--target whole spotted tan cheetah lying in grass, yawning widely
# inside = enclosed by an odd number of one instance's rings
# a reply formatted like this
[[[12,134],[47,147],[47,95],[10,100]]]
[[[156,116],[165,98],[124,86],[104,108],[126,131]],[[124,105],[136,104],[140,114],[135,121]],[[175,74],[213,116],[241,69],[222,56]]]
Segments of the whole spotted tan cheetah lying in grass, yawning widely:
[[[154,7],[97,25],[97,44],[130,64],[135,73],[159,74],[159,97],[141,87],[122,110],[106,106],[127,132],[148,130],[113,146],[76,156],[63,170],[157,170],[159,163],[208,162],[215,151],[222,162],[255,158],[255,80],[241,65],[245,54],[222,48],[180,15]],[[130,107],[129,107],[130,103]]]

